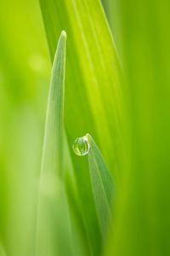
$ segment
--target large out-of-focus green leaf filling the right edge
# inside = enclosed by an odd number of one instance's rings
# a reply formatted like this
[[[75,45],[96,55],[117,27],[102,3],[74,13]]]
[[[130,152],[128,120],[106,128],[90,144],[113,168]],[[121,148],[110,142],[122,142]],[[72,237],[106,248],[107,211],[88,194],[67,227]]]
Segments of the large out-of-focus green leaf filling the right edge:
[[[132,152],[107,255],[169,255],[170,2],[119,3]]]

